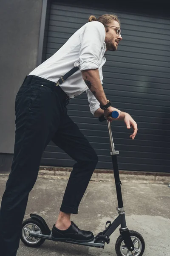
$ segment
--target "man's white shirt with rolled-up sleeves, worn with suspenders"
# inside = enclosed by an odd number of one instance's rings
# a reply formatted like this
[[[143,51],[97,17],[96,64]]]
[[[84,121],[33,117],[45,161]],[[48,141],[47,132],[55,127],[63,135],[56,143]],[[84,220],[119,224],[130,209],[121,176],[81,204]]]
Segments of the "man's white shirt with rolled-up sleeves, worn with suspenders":
[[[85,84],[81,71],[99,69],[102,83],[102,66],[106,61],[105,51],[105,27],[99,21],[91,21],[78,29],[54,55],[29,75],[40,76],[56,83],[74,66],[78,66],[79,70],[59,86],[70,98],[86,91],[91,113],[94,114],[100,103]]]

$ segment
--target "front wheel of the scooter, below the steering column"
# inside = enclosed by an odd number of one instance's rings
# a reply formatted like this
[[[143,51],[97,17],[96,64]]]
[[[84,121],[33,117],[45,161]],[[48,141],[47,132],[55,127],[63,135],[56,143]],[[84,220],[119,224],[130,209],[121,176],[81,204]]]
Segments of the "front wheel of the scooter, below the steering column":
[[[143,237],[141,236],[141,234],[133,230],[129,230],[129,233],[130,233],[130,237],[132,239],[133,245],[135,247],[133,252],[128,250],[127,246],[124,243],[122,235],[120,235],[116,240],[116,244],[115,244],[115,250],[116,250],[117,256],[142,256],[145,248]]]

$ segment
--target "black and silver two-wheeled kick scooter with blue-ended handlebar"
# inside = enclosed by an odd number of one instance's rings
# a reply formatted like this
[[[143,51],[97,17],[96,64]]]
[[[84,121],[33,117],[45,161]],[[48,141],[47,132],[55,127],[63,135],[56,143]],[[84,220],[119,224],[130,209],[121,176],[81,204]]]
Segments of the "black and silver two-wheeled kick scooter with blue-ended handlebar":
[[[117,118],[119,113],[117,111],[113,111],[111,116],[113,118]],[[99,117],[99,121],[104,121],[105,117]],[[94,237],[94,240],[91,242],[82,242],[77,243],[73,241],[62,241],[65,243],[71,244],[80,244],[86,245],[90,247],[98,247],[104,248],[105,243],[109,244],[111,234],[119,227],[120,236],[116,240],[115,250],[117,256],[142,256],[144,253],[144,239],[143,237],[136,231],[128,230],[126,226],[125,220],[125,210],[123,207],[123,200],[122,200],[122,191],[121,191],[121,181],[119,178],[119,168],[117,164],[117,154],[119,151],[115,151],[112,131],[111,131],[111,124],[107,120],[108,126],[108,134],[111,144],[111,158],[113,163],[113,173],[116,185],[116,194],[117,194],[117,201],[118,207],[116,208],[118,211],[118,217],[111,223],[111,221],[106,222],[105,230],[100,232],[99,234]],[[46,224],[45,220],[37,215],[37,214],[30,214],[31,218],[26,219],[23,221],[22,224],[22,232],[20,239],[29,247],[38,247],[45,239],[52,240],[51,238],[51,230],[49,229],[48,225]]]

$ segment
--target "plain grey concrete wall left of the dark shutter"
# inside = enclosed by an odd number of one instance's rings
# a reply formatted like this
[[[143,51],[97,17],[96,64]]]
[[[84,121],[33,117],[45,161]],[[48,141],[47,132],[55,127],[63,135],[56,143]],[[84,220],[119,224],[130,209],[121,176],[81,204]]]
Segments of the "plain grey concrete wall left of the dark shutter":
[[[15,96],[37,66],[41,12],[42,0],[0,1],[0,153],[14,151]]]

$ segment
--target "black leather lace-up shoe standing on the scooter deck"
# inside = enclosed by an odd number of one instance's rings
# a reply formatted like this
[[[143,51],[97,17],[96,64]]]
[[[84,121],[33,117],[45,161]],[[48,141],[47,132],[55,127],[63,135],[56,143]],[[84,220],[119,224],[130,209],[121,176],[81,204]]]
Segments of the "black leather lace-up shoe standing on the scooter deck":
[[[59,230],[55,227],[52,229],[53,241],[74,241],[74,242],[90,242],[94,240],[94,235],[91,231],[80,230],[73,221],[67,230]]]

